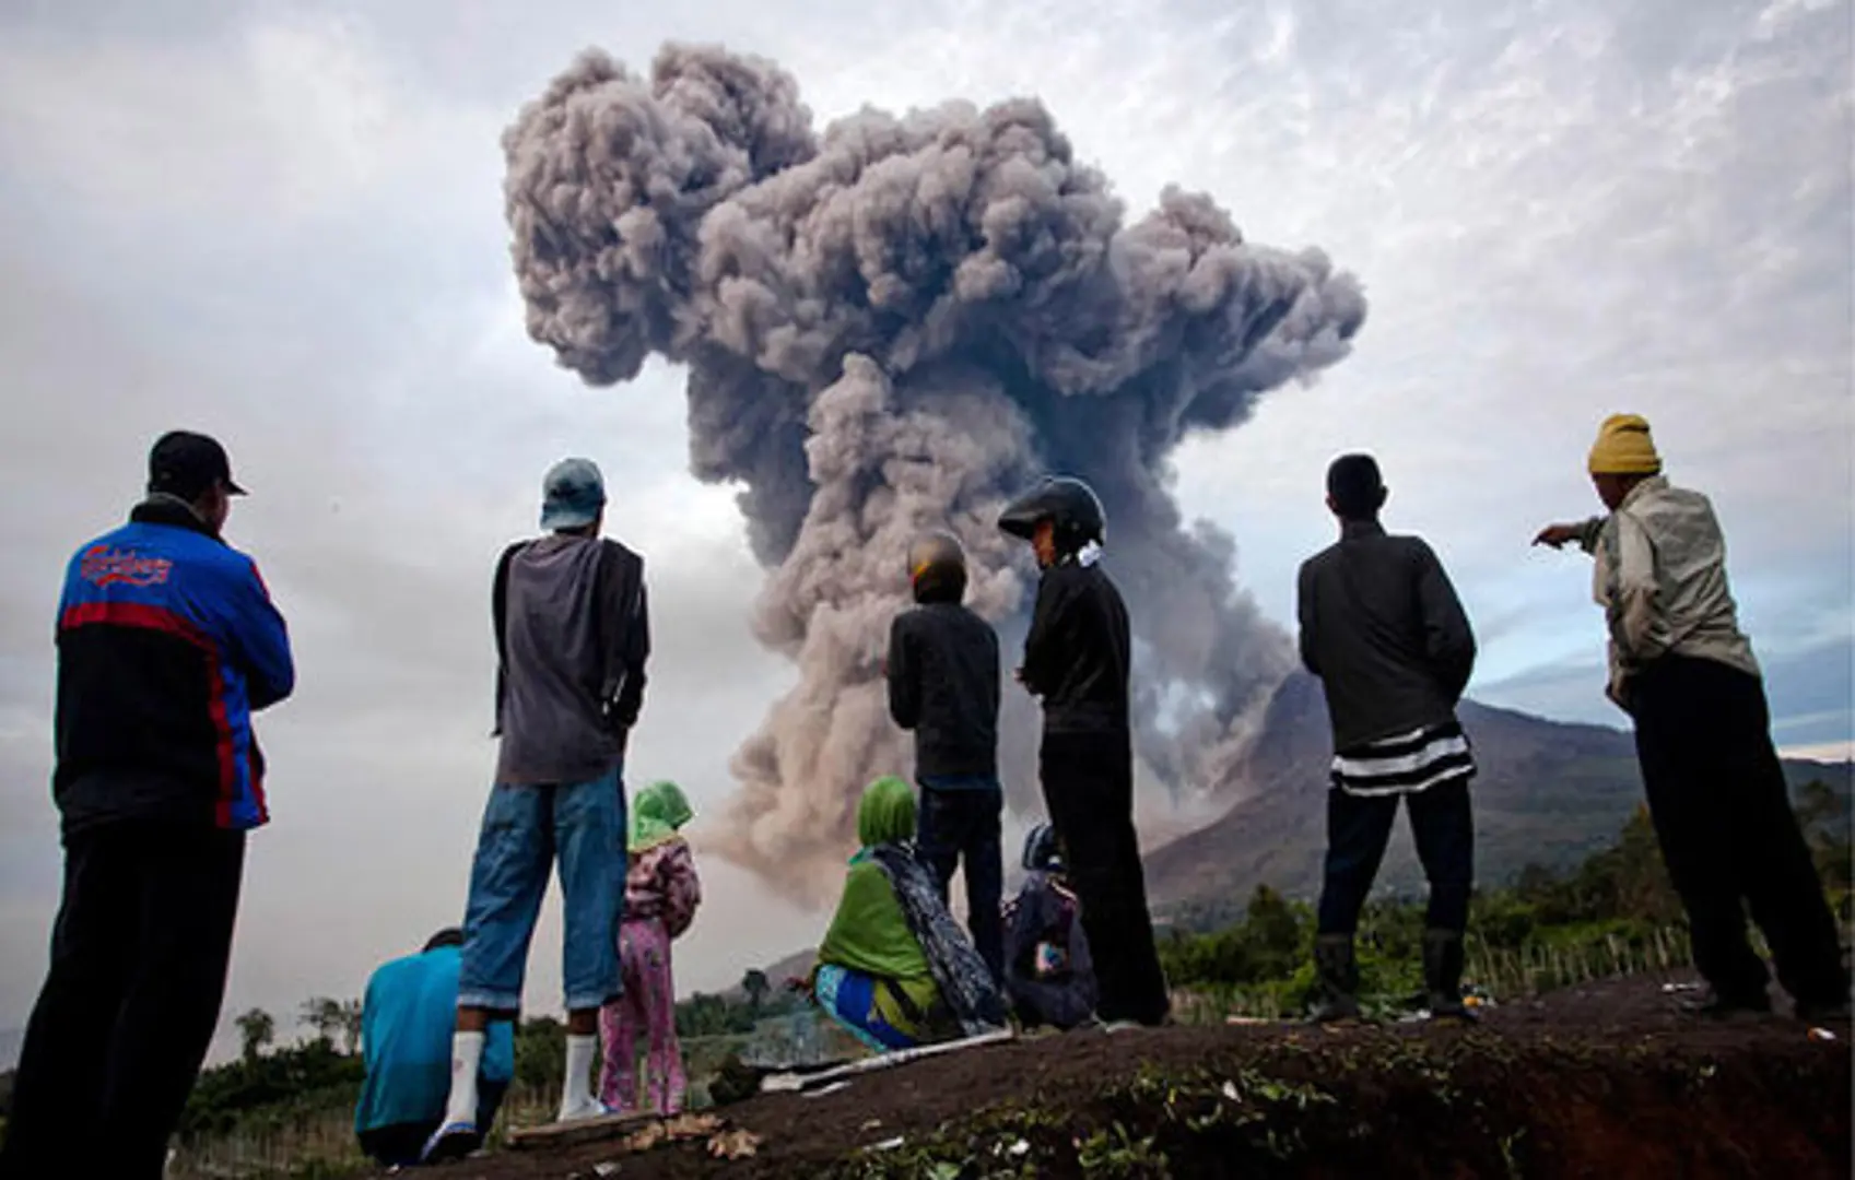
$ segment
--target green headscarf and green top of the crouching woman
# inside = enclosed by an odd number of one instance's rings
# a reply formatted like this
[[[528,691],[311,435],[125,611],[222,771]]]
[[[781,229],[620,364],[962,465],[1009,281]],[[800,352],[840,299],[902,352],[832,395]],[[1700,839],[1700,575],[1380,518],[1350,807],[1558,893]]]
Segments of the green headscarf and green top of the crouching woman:
[[[837,904],[831,930],[818,944],[818,961],[850,967],[881,980],[896,980],[926,1009],[937,989],[928,956],[909,931],[889,876],[870,848],[915,837],[915,792],[898,777],[870,783],[857,803],[857,839],[863,850],[850,859],[844,898]]]

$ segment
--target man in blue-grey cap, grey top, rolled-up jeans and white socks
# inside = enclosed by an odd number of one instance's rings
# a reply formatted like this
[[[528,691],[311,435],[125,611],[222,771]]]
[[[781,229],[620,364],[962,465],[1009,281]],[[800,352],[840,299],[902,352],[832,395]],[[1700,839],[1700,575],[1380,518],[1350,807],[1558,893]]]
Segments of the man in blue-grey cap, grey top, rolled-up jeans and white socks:
[[[568,458],[542,488],[542,529],[497,564],[495,787],[482,816],[464,918],[451,1100],[427,1161],[467,1154],[484,1030],[521,1007],[534,918],[555,859],[566,926],[568,1069],[560,1121],[605,1113],[592,1095],[599,1007],[620,994],[625,896],[625,738],[651,651],[644,558],[599,540],[605,481]]]

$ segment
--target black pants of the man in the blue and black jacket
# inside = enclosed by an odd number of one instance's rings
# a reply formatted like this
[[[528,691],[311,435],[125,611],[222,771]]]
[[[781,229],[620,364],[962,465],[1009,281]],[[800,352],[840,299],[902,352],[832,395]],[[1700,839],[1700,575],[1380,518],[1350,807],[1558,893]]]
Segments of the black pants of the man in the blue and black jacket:
[[[109,824],[65,839],[52,967],[0,1176],[160,1176],[219,1024],[245,835]]]

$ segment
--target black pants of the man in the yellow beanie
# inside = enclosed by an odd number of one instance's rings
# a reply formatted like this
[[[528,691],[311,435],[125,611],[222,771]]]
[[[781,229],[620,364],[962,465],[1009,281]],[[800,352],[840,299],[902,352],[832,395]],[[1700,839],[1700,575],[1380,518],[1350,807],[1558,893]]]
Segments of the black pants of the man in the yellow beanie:
[[[1723,998],[1760,998],[1770,976],[1746,907],[1805,1004],[1842,1004],[1835,917],[1790,811],[1764,683],[1716,661],[1666,655],[1629,681],[1636,757],[1662,863],[1688,911],[1694,965]]]

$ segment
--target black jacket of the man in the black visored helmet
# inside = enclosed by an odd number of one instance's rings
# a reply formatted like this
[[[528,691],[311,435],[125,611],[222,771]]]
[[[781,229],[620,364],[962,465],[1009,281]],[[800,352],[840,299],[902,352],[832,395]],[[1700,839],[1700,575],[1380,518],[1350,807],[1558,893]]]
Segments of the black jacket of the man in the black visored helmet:
[[[1024,686],[1043,698],[1044,733],[1126,733],[1132,649],[1106,570],[1074,558],[1044,570],[1024,640]]]

